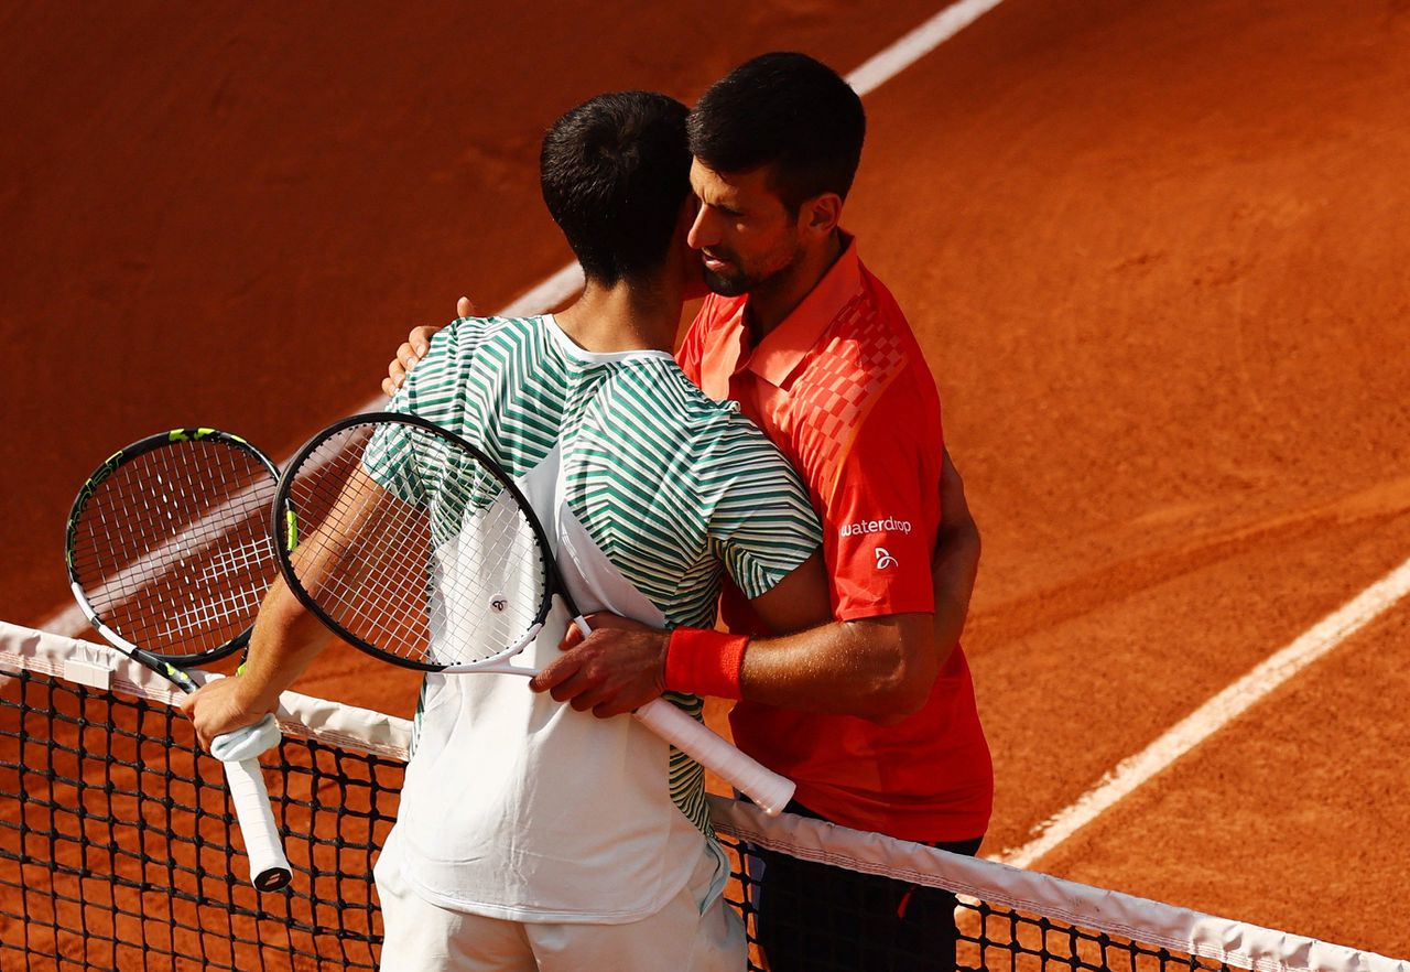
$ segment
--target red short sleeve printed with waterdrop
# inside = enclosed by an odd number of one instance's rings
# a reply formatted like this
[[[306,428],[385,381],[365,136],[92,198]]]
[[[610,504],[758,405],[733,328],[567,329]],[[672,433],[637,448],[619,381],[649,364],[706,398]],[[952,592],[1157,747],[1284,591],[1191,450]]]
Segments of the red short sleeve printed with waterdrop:
[[[825,502],[823,552],[839,619],[935,609],[942,451],[933,392],[893,382],[857,429]]]

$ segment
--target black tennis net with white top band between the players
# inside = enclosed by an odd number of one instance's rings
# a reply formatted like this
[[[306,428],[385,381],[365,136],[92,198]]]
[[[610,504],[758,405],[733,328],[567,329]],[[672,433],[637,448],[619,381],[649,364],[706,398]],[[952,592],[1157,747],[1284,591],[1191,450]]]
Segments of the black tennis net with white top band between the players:
[[[375,969],[372,861],[396,813],[405,719],[288,693],[265,756],[295,868],[257,893],[223,774],[164,679],[106,648],[0,622],[0,968]],[[959,897],[962,969],[1410,972],[1410,964],[1048,875],[712,797],[736,865],[726,897],[756,938],[760,859]],[[846,916],[773,934],[807,938]],[[925,941],[887,968],[932,968]],[[809,969],[878,968],[846,949]]]

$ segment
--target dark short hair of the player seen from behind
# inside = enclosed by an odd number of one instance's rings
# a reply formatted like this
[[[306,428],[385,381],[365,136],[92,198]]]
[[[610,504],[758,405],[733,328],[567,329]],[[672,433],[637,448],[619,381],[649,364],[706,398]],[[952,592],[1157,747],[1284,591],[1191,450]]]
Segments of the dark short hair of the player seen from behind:
[[[689,193],[688,109],[654,92],[584,102],[553,123],[539,154],[548,213],[589,279],[661,268]]]

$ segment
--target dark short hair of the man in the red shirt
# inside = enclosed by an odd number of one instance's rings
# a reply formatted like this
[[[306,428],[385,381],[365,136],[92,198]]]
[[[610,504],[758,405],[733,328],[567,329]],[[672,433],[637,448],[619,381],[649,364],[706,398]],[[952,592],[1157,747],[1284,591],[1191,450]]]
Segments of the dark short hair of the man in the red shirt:
[[[747,61],[715,82],[691,111],[691,152],[716,172],[771,166],[770,188],[797,212],[823,192],[846,199],[867,119],[838,72],[807,54]]]

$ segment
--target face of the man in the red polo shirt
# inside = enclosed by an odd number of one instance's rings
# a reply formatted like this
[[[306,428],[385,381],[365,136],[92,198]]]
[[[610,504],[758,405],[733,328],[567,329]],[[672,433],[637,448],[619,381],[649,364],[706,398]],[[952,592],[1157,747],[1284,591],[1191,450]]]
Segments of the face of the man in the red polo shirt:
[[[691,189],[699,212],[687,243],[699,251],[705,284],[715,293],[747,293],[801,260],[798,217],[768,188],[767,168],[726,175],[697,159]]]

